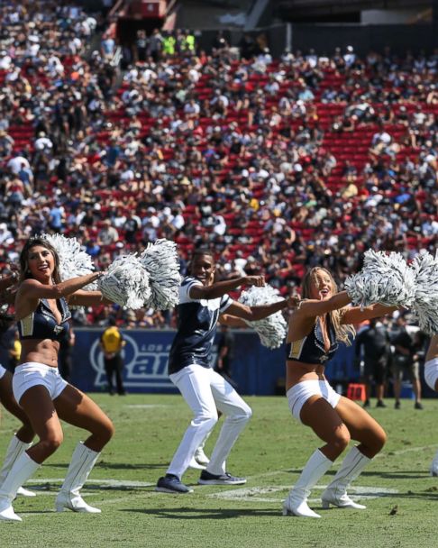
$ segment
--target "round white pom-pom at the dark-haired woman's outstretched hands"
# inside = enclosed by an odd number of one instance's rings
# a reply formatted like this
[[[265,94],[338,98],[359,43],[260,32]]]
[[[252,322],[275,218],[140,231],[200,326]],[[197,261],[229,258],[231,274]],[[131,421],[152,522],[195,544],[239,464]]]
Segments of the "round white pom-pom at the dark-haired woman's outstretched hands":
[[[110,301],[137,310],[151,297],[149,274],[135,255],[117,257],[97,285]]]

